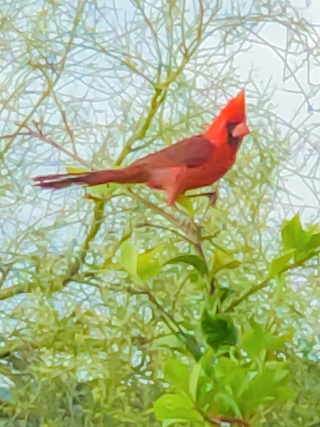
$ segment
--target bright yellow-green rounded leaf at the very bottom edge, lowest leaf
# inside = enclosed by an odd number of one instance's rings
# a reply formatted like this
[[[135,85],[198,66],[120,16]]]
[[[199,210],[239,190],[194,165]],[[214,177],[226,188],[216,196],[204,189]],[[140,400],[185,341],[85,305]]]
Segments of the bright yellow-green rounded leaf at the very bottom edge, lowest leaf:
[[[187,396],[164,394],[154,402],[154,412],[159,420],[181,419],[183,421],[203,422],[200,413],[193,407]]]

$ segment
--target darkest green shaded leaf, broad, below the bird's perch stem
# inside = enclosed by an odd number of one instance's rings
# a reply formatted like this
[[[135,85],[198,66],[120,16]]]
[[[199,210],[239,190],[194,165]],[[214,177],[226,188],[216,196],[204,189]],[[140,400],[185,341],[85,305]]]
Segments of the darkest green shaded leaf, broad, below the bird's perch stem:
[[[213,349],[217,349],[223,344],[237,344],[237,330],[235,329],[235,325],[233,325],[231,317],[228,315],[210,316],[208,311],[204,310],[201,329],[206,342]]]

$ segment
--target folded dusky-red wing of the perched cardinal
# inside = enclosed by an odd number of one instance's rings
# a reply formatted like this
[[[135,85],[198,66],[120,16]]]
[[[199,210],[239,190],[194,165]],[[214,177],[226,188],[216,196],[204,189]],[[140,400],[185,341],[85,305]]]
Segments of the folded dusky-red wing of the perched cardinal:
[[[200,167],[212,159],[214,149],[214,145],[206,137],[196,135],[154,153],[152,163],[158,160],[161,167]],[[157,165],[154,164],[154,166]]]

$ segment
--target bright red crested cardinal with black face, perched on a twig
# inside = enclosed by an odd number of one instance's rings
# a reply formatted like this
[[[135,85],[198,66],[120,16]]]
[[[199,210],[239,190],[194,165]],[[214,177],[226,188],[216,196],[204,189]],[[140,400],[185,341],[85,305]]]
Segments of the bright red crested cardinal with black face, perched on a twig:
[[[203,135],[183,139],[123,169],[38,176],[34,181],[43,189],[61,189],[72,184],[144,183],[151,189],[166,191],[168,204],[173,205],[180,194],[213,184],[228,172],[235,163],[242,138],[249,132],[245,90],[242,90],[228,102]]]

